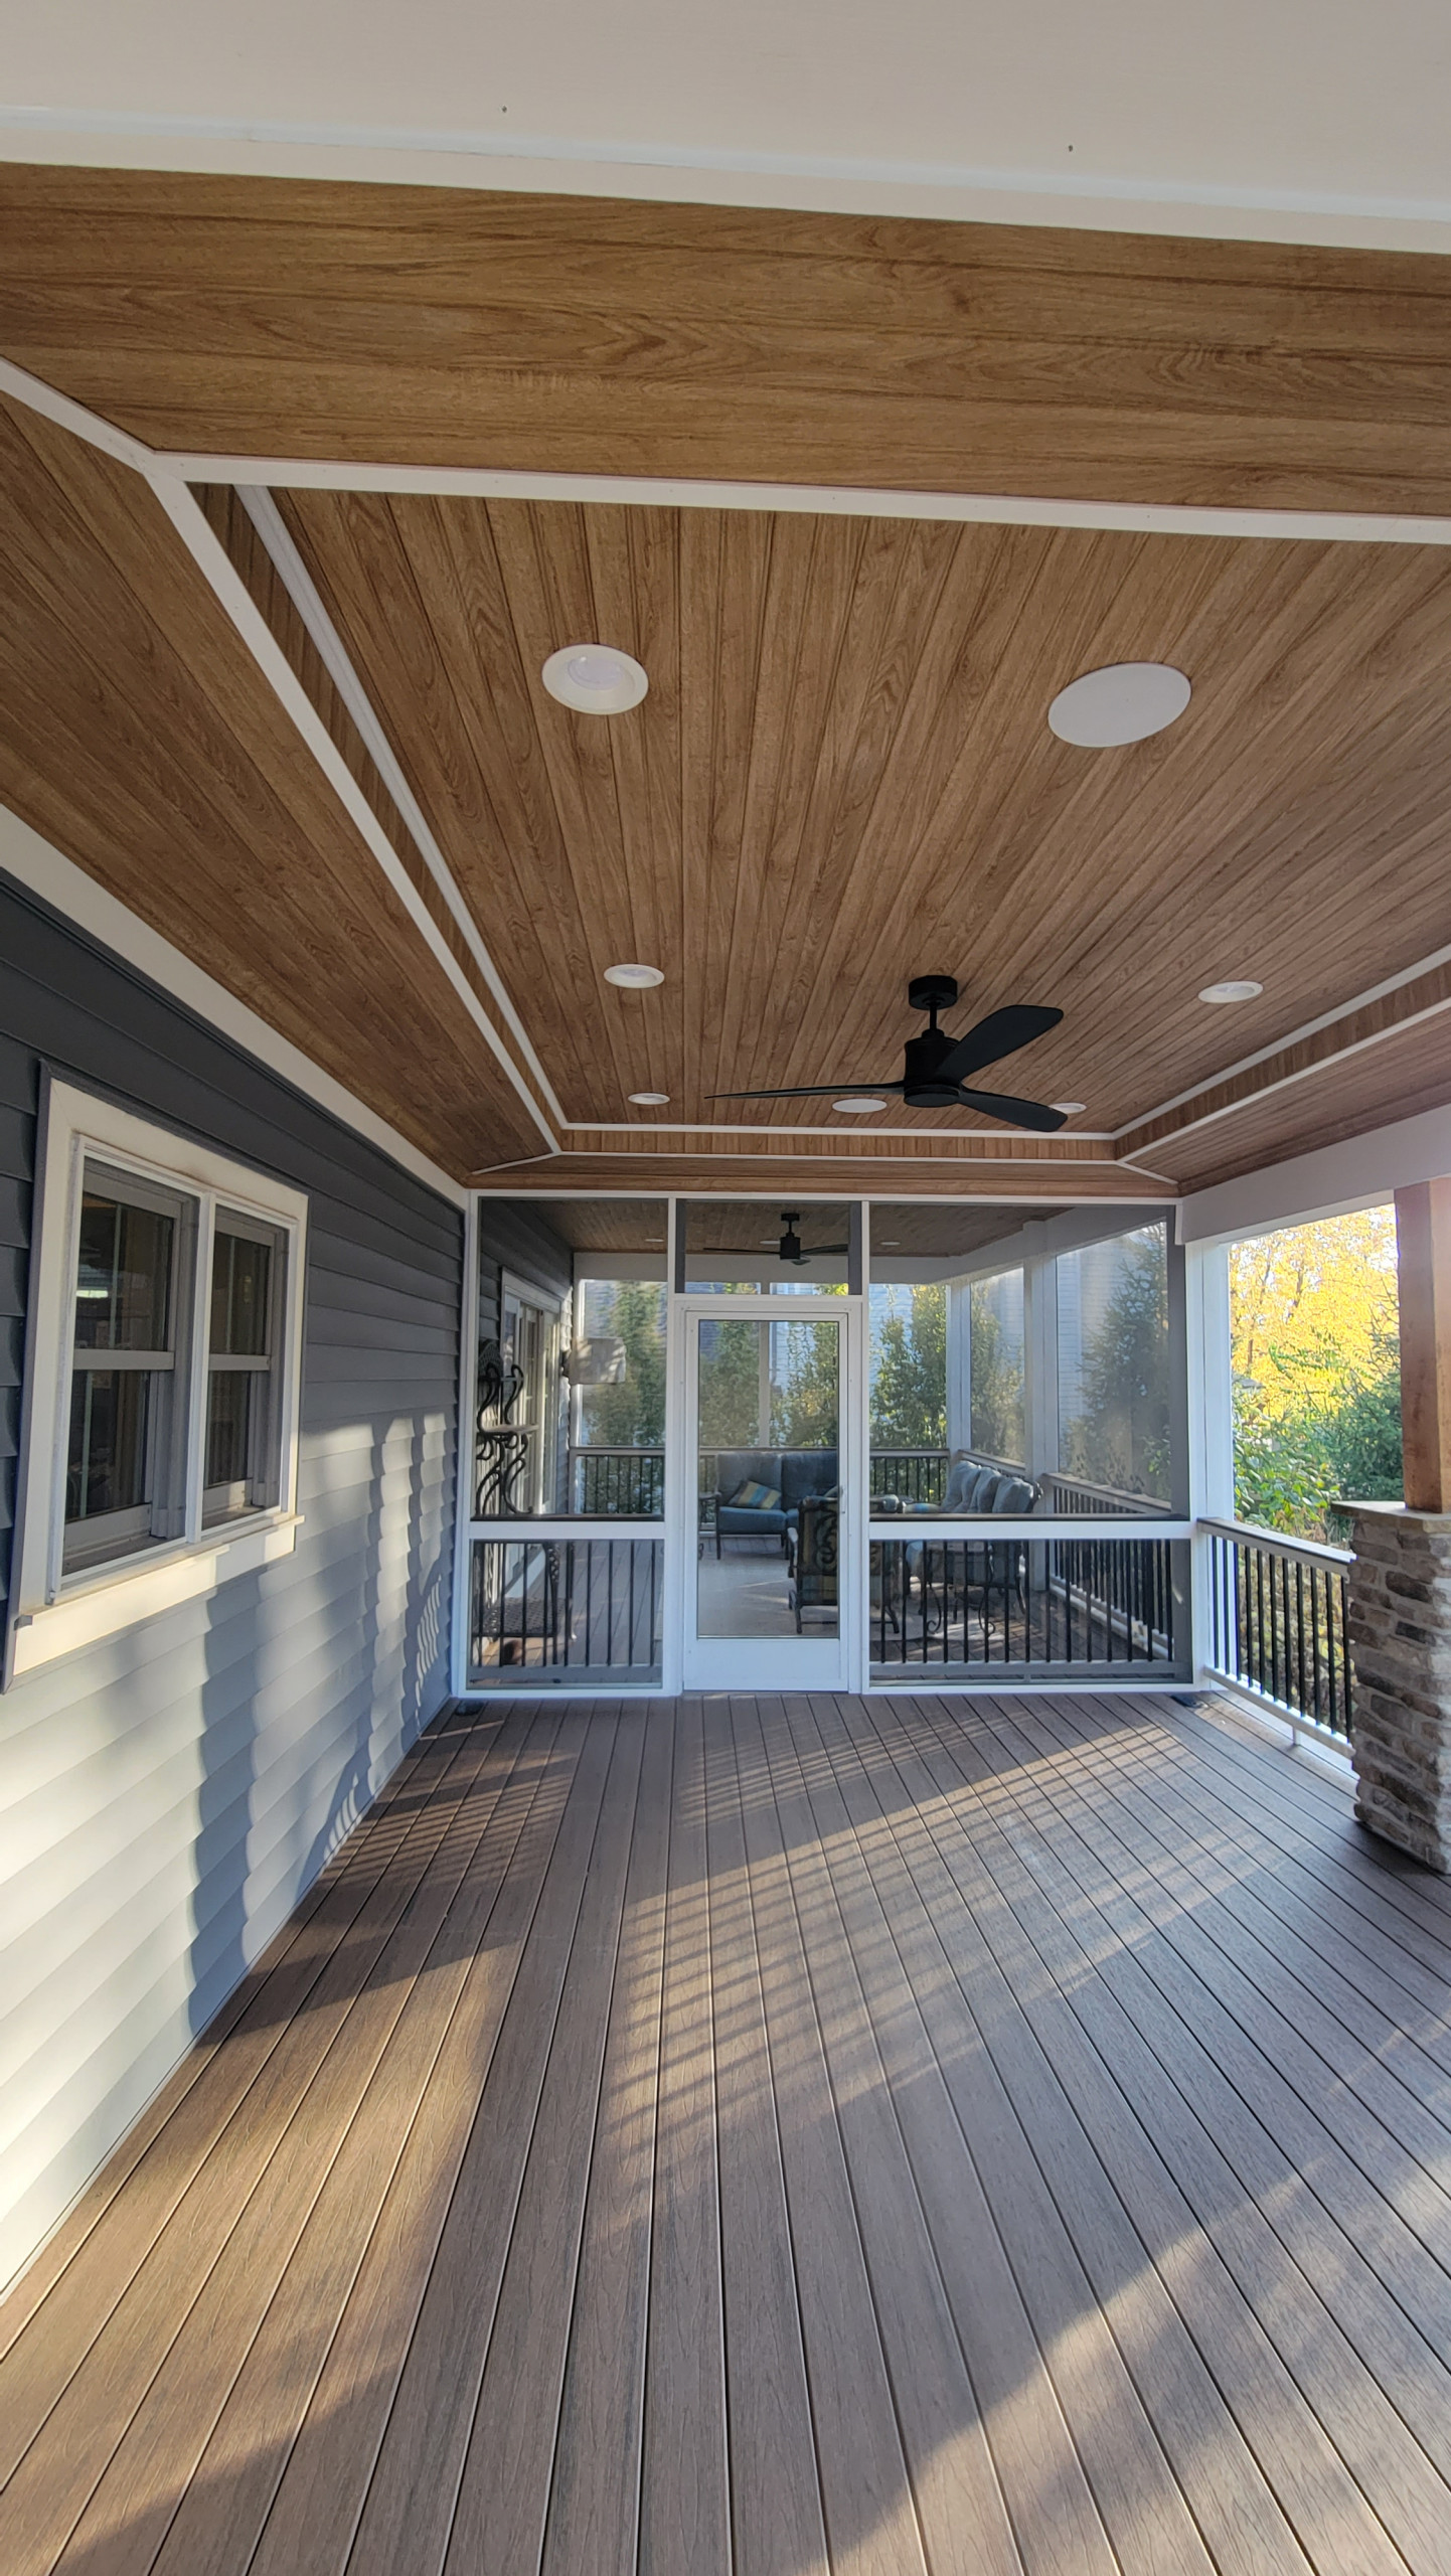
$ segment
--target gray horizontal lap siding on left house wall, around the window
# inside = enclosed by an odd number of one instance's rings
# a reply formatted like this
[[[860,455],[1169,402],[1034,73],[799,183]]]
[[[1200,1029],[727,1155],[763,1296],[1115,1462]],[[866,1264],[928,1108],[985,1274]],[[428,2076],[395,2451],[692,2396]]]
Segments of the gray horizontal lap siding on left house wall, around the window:
[[[291,1556],[0,1700],[0,2282],[448,1690],[461,1216],[0,878],[0,1582],[41,1066],[309,1195]]]

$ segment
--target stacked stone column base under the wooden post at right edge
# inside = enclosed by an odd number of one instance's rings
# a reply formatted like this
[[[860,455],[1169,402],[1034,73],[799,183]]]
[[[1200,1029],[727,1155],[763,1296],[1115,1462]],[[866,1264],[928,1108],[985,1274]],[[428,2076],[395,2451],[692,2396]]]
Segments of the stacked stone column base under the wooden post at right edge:
[[[1356,1510],[1356,1814],[1451,1870],[1451,1512]]]

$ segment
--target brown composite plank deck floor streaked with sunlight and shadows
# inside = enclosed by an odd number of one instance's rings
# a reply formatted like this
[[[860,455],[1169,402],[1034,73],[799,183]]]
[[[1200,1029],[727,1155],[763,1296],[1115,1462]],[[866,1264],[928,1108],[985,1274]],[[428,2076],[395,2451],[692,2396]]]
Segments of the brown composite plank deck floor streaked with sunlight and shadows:
[[[1451,2571],[1448,1973],[1170,1698],[451,1713],[0,2311],[0,2566]]]

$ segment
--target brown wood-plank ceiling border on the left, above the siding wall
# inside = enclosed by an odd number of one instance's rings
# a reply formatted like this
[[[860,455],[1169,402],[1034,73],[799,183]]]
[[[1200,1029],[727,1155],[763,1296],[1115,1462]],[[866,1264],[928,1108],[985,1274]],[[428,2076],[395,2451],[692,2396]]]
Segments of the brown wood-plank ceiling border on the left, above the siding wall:
[[[0,402],[0,801],[456,1172],[539,1126],[147,484]]]

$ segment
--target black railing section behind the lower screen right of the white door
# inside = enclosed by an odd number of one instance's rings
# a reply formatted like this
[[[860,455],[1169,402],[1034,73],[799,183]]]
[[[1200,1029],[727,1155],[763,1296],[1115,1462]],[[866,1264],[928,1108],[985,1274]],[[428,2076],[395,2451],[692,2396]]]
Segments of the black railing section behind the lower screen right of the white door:
[[[874,1667],[1178,1677],[1175,1540],[871,1540]]]

